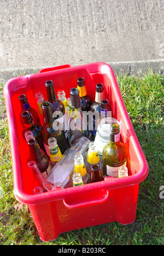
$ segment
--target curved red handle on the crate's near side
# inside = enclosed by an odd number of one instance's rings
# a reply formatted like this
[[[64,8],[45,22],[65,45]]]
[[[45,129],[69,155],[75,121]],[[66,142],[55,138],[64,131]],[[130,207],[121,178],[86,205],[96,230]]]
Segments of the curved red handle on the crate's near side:
[[[105,203],[108,200],[108,196],[109,196],[109,191],[105,190],[105,191],[102,191],[101,197],[96,199],[94,198],[85,202],[67,202],[67,199],[63,199],[63,203],[68,209],[83,208],[83,207],[89,207],[89,206],[100,205],[102,203]]]

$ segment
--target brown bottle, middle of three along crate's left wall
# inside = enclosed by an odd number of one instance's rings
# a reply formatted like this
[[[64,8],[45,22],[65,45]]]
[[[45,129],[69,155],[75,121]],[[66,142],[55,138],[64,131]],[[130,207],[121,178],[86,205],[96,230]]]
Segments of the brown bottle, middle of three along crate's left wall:
[[[36,138],[40,149],[45,152],[43,136],[42,136],[42,127],[38,124],[34,124],[33,118],[28,111],[22,112],[22,120],[24,124],[23,136],[26,131],[32,131],[34,138]]]

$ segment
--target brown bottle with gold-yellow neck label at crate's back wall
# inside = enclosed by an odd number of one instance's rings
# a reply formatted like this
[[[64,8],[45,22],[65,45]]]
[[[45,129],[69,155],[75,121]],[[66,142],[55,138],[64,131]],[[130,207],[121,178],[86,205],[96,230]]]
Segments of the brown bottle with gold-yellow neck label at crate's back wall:
[[[78,78],[77,88],[79,89],[81,110],[89,111],[91,109],[92,99],[89,95],[87,95],[85,79],[83,77]]]

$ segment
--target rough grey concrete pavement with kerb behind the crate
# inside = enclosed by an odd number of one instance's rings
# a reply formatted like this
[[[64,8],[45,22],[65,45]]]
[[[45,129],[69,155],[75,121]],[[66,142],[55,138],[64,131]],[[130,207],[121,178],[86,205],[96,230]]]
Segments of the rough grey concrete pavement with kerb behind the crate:
[[[97,61],[163,71],[163,18],[163,0],[1,0],[0,78]]]

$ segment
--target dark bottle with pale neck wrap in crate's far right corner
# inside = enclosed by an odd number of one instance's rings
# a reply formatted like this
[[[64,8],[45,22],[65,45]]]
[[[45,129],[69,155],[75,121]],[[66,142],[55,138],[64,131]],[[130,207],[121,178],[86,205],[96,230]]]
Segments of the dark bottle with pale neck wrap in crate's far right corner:
[[[93,136],[96,136],[97,127],[100,120],[100,114],[101,114],[101,102],[104,99],[104,86],[103,84],[96,84],[96,95],[95,95],[95,101],[91,104],[91,111],[92,113],[98,112],[99,115],[96,115],[95,118],[92,119],[93,122]]]

